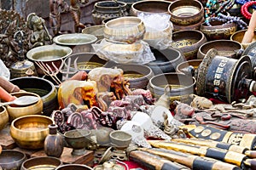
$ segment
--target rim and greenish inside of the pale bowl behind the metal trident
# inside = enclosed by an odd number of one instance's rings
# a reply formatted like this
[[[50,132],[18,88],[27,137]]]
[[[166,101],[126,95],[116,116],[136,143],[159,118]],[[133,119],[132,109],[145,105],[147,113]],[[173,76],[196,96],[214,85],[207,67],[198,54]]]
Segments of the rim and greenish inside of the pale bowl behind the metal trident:
[[[72,54],[71,48],[53,44],[32,48],[27,52],[26,57],[32,61],[55,61],[64,59],[69,54]]]

